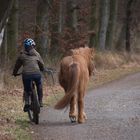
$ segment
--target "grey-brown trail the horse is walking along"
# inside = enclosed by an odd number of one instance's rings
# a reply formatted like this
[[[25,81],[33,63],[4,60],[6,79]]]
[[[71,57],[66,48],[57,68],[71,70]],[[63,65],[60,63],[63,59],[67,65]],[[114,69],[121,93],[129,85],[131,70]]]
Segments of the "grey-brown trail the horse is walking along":
[[[71,124],[68,111],[43,108],[36,140],[140,140],[140,73],[89,91],[88,120]]]

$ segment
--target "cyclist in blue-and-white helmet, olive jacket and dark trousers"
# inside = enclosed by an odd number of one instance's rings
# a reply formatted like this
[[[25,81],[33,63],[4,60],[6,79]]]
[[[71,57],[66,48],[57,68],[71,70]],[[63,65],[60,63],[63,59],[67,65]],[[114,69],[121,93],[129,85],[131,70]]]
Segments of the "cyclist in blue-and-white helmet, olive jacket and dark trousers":
[[[41,80],[41,71],[44,71],[44,62],[40,54],[35,50],[35,42],[31,38],[27,38],[23,42],[24,51],[18,56],[13,75],[16,76],[18,70],[22,69],[22,81],[24,86],[24,112],[29,109],[29,95],[32,92],[31,82],[34,81],[37,87],[37,93],[39,98],[40,107],[43,107],[43,89]]]

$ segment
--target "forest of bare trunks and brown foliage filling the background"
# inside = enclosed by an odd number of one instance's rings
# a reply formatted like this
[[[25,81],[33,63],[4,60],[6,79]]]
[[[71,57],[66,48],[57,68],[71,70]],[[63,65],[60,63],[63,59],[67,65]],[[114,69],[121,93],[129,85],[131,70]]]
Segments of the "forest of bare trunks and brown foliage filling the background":
[[[139,6],[139,0],[1,1],[1,64],[15,60],[27,37],[35,40],[44,59],[84,45],[138,52]]]

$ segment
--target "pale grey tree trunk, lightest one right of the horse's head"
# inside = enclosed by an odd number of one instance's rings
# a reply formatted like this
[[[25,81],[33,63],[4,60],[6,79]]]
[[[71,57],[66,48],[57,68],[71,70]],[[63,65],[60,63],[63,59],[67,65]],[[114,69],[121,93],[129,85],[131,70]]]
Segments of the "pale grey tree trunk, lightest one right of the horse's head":
[[[100,19],[100,29],[99,29],[99,49],[105,50],[106,44],[106,34],[109,21],[109,7],[110,0],[101,0],[101,19]]]

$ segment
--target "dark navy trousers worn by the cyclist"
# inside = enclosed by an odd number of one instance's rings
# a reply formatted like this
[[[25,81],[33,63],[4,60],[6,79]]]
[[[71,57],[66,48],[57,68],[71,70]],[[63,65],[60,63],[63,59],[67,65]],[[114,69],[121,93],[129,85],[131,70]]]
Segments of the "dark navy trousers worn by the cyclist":
[[[43,90],[42,90],[41,74],[23,74],[22,81],[24,86],[25,103],[28,102],[29,95],[32,92],[32,85],[31,85],[32,81],[34,81],[36,84],[39,101],[42,101]]]

